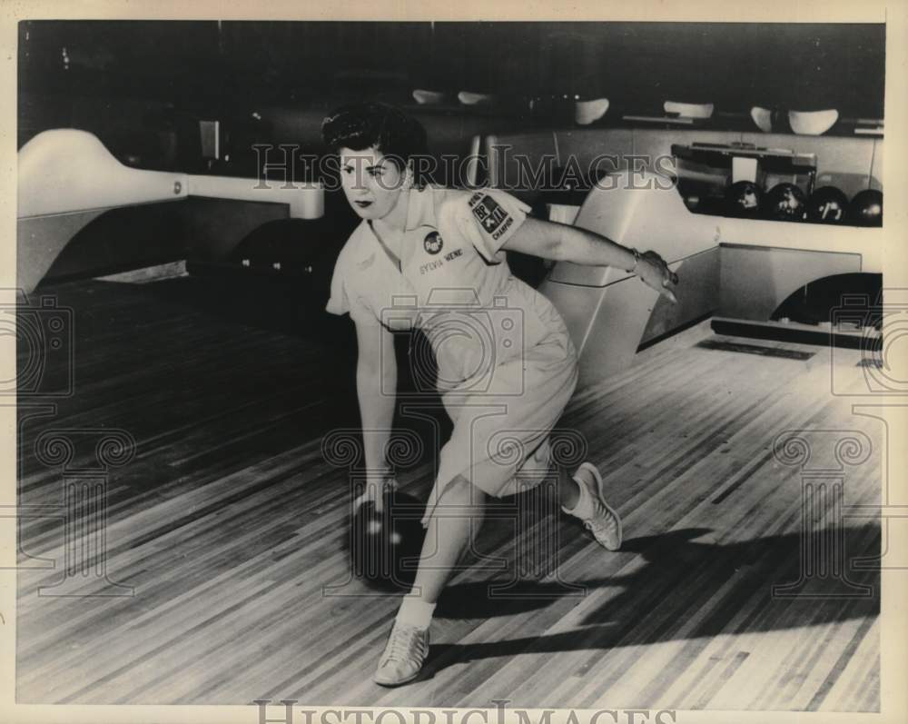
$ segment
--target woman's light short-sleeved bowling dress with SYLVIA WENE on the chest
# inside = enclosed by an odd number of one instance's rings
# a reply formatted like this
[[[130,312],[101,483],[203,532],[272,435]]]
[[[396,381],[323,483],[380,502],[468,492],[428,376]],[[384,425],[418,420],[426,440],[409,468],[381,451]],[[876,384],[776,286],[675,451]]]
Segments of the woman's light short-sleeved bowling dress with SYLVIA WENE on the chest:
[[[458,473],[504,495],[518,490],[528,467],[547,468],[548,434],[577,383],[564,321],[510,273],[501,248],[528,211],[498,190],[413,189],[400,266],[364,220],[334,268],[328,312],[390,330],[416,326],[432,344],[455,423],[436,500]],[[499,444],[506,438],[518,444],[516,455]]]

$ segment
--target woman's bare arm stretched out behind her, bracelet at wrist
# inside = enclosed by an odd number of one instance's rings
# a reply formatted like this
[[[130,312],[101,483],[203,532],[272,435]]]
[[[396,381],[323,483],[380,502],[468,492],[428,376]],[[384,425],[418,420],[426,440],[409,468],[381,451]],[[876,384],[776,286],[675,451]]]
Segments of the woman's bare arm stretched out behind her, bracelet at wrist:
[[[676,301],[669,284],[677,283],[677,275],[668,269],[661,256],[655,252],[637,253],[635,249],[628,249],[586,229],[528,218],[503,248],[556,262],[624,269],[637,274],[657,292]]]

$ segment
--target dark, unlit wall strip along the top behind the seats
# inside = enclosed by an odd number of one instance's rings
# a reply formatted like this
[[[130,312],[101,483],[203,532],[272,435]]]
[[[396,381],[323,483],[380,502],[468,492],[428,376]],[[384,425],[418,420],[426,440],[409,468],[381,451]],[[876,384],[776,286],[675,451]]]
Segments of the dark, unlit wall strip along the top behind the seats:
[[[638,113],[671,99],[883,117],[884,25],[24,21],[19,41],[33,114],[64,95],[217,112],[428,88],[515,109],[579,94]]]

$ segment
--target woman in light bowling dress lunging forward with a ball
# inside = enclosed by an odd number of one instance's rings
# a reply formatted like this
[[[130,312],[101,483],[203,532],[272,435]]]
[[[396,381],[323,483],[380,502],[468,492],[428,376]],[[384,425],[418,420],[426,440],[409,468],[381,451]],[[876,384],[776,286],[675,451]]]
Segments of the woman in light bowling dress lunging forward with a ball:
[[[394,485],[384,450],[395,408],[387,392],[397,383],[387,311],[396,300],[410,300],[411,319],[431,342],[439,393],[454,423],[423,520],[427,535],[416,579],[374,676],[383,686],[398,686],[419,675],[436,601],[479,529],[486,496],[526,490],[532,471],[548,468],[548,432],[577,384],[577,352],[565,322],[546,297],[510,273],[505,252],[625,269],[673,301],[677,277],[656,253],[528,218],[528,206],[508,193],[420,187],[413,160],[425,153],[426,133],[390,105],[346,105],[324,120],[322,135],[340,156],[343,191],[362,220],[338,257],[327,311],[349,313],[355,323],[362,427],[385,431],[364,436],[368,477],[358,502],[380,501]],[[488,325],[485,339],[494,350],[476,335],[446,333],[452,308],[495,312],[470,317]],[[483,359],[494,360],[491,371]],[[489,414],[490,405],[500,413]],[[503,430],[521,443],[516,460],[503,461],[488,449]],[[576,471],[558,465],[558,481],[562,509],[600,545],[617,550],[621,521],[605,500],[596,467],[588,461]]]

